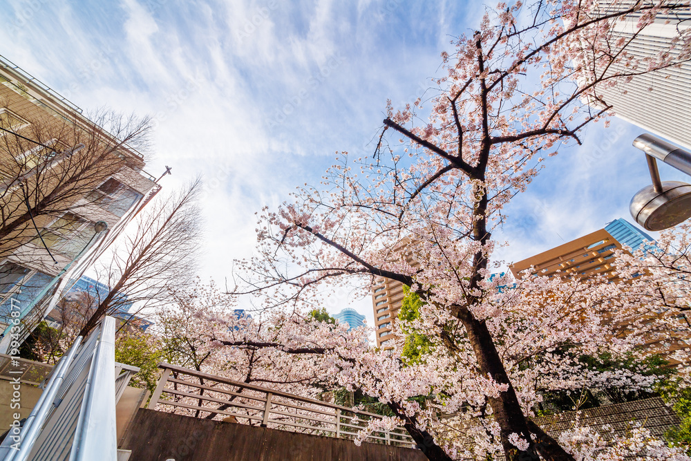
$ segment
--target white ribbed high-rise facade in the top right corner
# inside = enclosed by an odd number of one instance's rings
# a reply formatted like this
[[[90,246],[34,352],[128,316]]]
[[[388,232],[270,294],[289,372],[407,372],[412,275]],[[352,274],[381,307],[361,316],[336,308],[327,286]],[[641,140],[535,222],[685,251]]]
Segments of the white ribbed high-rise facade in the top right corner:
[[[628,9],[633,4],[633,0],[598,1],[603,15]],[[637,62],[654,58],[670,47],[670,55],[678,57],[681,47],[672,47],[672,39],[691,27],[691,8],[658,15],[654,23],[638,32],[636,23],[640,17],[641,13],[637,12],[623,21],[616,21],[610,38],[612,43],[623,39],[627,43],[627,53],[634,55]],[[588,61],[585,57],[584,64],[589,65]],[[618,62],[610,66],[607,73],[619,73],[625,65]],[[606,104],[613,106],[617,117],[691,149],[691,62],[636,75],[630,82],[614,88],[600,88],[598,92]]]

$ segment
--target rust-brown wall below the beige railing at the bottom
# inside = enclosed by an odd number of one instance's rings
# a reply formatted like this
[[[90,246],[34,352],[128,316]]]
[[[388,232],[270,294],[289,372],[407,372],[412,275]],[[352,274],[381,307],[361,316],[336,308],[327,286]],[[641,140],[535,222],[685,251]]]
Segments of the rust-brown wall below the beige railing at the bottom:
[[[122,449],[130,461],[423,461],[422,451],[140,408]]]

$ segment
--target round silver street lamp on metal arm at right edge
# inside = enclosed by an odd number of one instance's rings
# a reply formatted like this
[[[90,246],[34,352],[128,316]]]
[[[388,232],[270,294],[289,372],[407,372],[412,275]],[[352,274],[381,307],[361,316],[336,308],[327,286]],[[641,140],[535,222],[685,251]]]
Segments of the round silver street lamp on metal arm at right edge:
[[[691,217],[691,185],[680,181],[662,182],[656,159],[691,176],[691,152],[649,134],[638,136],[634,147],[645,152],[652,185],[643,187],[631,199],[631,216],[650,231],[683,223]]]

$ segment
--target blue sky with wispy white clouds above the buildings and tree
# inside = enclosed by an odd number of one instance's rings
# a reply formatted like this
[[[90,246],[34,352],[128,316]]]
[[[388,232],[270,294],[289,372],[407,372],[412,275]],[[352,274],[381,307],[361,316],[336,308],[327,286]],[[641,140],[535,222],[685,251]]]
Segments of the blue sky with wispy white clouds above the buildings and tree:
[[[475,1],[5,0],[0,54],[84,109],[153,115],[147,170],[173,167],[166,187],[205,177],[202,275],[223,283],[256,241],[254,212],[316,183],[335,151],[371,153],[386,100],[424,95],[440,53],[481,14]],[[650,182],[631,147],[642,132],[614,119],[549,158],[495,234],[511,243],[502,256],[631,220],[629,200]],[[372,322],[368,299],[353,307]]]

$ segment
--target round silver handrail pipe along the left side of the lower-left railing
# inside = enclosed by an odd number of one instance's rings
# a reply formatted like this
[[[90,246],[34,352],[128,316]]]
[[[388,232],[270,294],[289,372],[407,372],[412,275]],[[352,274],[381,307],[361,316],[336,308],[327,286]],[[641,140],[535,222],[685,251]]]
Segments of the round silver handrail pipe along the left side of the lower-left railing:
[[[50,411],[51,406],[53,406],[57,391],[60,390],[65,374],[81,343],[82,337],[78,336],[67,352],[67,355],[59,361],[58,369],[55,370],[55,375],[50,378],[48,385],[41,393],[41,397],[39,397],[39,401],[26,418],[26,422],[22,428],[24,430],[19,433],[19,443],[21,444],[19,451],[13,451],[4,461],[23,461],[28,458],[33,444],[39,436],[41,426],[43,426],[44,420],[46,416],[48,416],[48,411]]]

